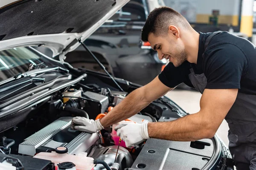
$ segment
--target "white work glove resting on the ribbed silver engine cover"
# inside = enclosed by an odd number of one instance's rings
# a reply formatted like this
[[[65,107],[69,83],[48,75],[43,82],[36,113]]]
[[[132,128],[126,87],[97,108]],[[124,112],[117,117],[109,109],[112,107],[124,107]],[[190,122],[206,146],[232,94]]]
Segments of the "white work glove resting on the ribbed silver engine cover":
[[[71,128],[88,133],[95,133],[98,130],[104,129],[102,124],[99,122],[99,119],[94,121],[93,119],[87,119],[79,116],[72,119]]]

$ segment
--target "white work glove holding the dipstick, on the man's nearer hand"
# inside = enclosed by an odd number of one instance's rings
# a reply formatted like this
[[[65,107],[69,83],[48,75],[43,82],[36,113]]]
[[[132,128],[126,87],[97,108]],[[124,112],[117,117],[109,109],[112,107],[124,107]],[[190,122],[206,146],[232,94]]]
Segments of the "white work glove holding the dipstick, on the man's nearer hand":
[[[143,124],[129,123],[120,124],[115,127],[116,134],[125,142],[126,147],[134,147],[136,144],[140,144],[145,139],[149,139],[148,136],[148,122]]]

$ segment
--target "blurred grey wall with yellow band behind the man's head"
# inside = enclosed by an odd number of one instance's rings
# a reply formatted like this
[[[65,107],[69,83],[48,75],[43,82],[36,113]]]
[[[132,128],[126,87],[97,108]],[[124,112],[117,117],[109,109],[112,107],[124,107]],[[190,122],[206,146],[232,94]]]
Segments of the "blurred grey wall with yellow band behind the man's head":
[[[212,10],[219,10],[218,23],[238,26],[240,0],[164,0],[190,23],[209,23]]]

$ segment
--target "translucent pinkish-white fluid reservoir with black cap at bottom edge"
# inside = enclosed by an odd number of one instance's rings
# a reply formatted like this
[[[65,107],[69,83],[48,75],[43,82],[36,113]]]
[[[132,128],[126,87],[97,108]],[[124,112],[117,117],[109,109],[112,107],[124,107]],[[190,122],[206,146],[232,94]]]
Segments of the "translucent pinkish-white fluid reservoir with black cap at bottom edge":
[[[76,170],[93,170],[93,158],[84,155],[70,155],[67,153],[67,147],[57,147],[55,152],[40,152],[34,156],[38,159],[46,159],[54,162],[55,165],[62,162],[72,162],[76,165]]]

